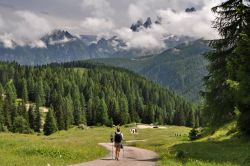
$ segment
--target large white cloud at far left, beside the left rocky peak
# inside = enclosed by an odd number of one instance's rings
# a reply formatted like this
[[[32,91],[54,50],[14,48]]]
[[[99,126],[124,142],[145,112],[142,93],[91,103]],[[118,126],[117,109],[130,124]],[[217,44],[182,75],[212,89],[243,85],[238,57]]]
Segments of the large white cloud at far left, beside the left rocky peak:
[[[13,16],[0,21],[0,27],[0,41],[8,48],[14,46],[13,41],[20,46],[44,47],[40,38],[52,29],[46,19],[30,11],[14,12]]]

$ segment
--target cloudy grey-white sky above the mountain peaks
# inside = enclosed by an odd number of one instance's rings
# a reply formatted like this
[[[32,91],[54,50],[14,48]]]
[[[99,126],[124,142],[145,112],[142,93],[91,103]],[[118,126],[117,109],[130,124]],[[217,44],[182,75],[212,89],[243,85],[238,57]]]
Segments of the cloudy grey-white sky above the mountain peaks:
[[[99,37],[118,36],[129,48],[161,48],[166,34],[213,39],[211,7],[223,0],[0,0],[0,41],[5,47],[46,47],[40,38],[54,29]],[[186,13],[195,7],[197,12]],[[162,24],[132,32],[132,23],[151,17]]]

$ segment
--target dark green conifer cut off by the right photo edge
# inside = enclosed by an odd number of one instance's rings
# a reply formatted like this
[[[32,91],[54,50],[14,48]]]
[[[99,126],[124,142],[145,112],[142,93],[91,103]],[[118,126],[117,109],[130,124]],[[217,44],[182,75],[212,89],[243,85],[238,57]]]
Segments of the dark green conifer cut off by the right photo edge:
[[[237,66],[236,80],[239,83],[237,91],[237,105],[240,111],[239,127],[240,130],[250,135],[250,10],[247,15],[247,28],[243,31],[237,43]]]

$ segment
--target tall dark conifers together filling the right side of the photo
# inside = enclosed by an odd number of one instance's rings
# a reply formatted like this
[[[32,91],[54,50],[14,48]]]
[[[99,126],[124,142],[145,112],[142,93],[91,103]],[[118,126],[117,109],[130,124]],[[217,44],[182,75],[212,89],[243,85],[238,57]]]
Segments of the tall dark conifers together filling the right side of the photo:
[[[242,133],[250,135],[250,7],[227,0],[212,10],[221,39],[211,42],[214,51],[206,55],[206,123],[220,126],[237,118]]]

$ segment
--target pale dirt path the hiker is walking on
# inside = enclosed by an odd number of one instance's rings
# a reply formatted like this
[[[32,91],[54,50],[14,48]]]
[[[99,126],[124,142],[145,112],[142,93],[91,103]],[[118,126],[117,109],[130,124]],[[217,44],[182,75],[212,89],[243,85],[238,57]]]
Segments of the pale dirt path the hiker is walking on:
[[[112,144],[100,143],[100,145],[110,151],[106,157],[73,166],[155,166],[158,160],[158,155],[153,151],[124,146],[124,154],[121,149],[120,159],[116,161],[112,159]]]

